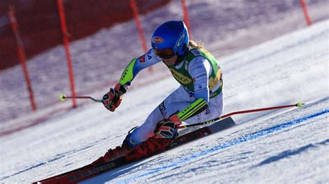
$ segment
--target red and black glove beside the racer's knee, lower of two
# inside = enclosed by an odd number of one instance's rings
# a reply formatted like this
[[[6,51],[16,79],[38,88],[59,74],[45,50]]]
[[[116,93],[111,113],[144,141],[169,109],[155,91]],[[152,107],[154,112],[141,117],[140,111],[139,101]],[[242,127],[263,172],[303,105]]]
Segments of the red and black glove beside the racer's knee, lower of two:
[[[181,124],[177,114],[170,116],[169,119],[161,120],[155,128],[155,138],[176,138],[178,136],[177,127]]]

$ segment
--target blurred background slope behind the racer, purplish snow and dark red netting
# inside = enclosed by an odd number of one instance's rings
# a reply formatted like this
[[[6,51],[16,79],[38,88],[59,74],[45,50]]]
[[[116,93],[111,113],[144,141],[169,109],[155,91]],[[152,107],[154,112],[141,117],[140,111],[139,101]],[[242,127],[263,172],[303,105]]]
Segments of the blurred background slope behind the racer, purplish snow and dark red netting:
[[[128,62],[144,54],[130,3],[128,0],[67,0],[63,3],[76,92],[101,98],[119,80]],[[148,47],[152,31],[159,24],[183,20],[181,1],[137,0],[136,3]],[[199,39],[205,42],[205,48],[220,53],[215,55],[219,62],[223,55],[307,26],[299,0],[187,0],[186,3],[192,39]],[[329,18],[328,1],[306,3],[312,22]],[[28,58],[38,109],[35,112],[31,110],[22,67],[18,65],[15,37],[7,16],[10,6],[16,9]],[[212,31],[206,34],[204,29]],[[67,73],[56,0],[0,1],[0,94],[3,97],[0,98],[0,135],[31,125],[31,121],[58,109],[70,108],[71,103],[58,102],[60,93],[70,94]],[[144,71],[139,75],[133,86],[168,75],[165,66],[155,66],[153,72]],[[83,103],[87,102],[79,101],[78,105]]]

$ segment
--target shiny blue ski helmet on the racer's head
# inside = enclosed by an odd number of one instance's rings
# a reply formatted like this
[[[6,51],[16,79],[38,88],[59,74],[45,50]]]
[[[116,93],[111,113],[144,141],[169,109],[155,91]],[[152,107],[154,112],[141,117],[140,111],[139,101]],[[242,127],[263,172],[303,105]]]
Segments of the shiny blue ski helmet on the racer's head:
[[[189,33],[183,21],[167,21],[155,29],[152,48],[171,48],[176,55],[184,55],[189,43]]]

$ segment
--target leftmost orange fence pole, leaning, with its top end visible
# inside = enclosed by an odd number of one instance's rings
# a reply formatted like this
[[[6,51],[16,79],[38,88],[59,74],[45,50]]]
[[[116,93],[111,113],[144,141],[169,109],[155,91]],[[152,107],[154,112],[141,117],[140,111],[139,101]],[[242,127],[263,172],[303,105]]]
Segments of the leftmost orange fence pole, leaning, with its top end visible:
[[[26,66],[26,55],[25,55],[25,50],[24,50],[24,44],[23,44],[22,37],[19,33],[19,26],[17,24],[15,8],[13,6],[9,7],[8,17],[10,19],[10,26],[11,26],[12,32],[15,35],[15,39],[16,39],[16,43],[17,43],[17,55],[19,58],[19,62],[21,63],[22,68],[23,68],[23,73],[24,73],[26,85],[28,88],[28,94],[30,95],[31,107],[32,107],[33,111],[36,111],[37,105],[35,104],[35,101],[34,101],[32,84],[31,84],[30,77],[28,75],[28,68]]]

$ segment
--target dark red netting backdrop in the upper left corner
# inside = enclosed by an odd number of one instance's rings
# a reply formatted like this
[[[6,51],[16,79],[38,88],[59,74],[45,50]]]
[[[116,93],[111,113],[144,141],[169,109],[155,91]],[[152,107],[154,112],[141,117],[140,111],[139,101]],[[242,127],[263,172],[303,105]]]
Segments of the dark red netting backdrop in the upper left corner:
[[[101,28],[133,18],[129,1],[83,0],[64,1],[70,41],[96,33]],[[164,6],[169,0],[136,1],[140,14]],[[3,0],[0,1],[0,70],[18,64],[15,39],[7,17],[9,6],[14,6],[21,30],[26,56],[37,55],[47,48],[62,44],[60,19],[56,0]]]

